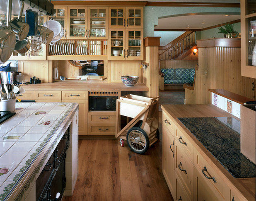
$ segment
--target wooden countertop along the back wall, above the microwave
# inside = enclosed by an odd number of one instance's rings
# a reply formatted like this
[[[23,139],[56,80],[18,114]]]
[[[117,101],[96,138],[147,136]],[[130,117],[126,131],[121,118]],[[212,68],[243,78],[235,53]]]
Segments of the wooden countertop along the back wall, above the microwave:
[[[57,81],[53,83],[22,85],[26,91],[148,91],[145,84],[125,86],[123,83],[106,81]]]

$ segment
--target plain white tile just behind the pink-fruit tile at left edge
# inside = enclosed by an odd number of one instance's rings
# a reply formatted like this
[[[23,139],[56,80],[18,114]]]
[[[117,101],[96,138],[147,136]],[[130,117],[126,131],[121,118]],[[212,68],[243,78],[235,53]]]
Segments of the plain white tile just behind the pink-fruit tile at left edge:
[[[1,165],[19,165],[27,152],[6,152],[0,156]]]

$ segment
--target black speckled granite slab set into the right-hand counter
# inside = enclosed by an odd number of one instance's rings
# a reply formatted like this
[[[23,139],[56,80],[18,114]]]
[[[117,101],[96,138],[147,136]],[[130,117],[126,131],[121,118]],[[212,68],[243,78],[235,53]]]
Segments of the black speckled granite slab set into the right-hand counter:
[[[233,177],[256,177],[255,164],[240,153],[240,134],[237,132],[240,130],[240,122],[238,120],[233,117],[178,119]]]

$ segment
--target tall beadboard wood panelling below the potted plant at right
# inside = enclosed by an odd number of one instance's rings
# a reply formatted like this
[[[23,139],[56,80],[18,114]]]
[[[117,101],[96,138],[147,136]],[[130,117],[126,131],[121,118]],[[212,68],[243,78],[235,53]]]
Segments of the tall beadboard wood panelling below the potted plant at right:
[[[256,99],[256,79],[241,76],[241,48],[199,47],[195,89],[185,89],[186,104],[209,104],[208,89],[227,91]]]

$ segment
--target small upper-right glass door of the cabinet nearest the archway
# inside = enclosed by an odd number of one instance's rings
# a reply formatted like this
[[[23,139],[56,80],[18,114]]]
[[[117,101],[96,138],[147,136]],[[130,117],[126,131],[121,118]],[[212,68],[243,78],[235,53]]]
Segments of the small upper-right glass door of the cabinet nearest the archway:
[[[126,12],[126,26],[128,28],[137,27],[142,28],[143,9],[127,8]]]

